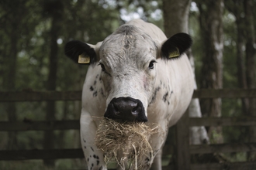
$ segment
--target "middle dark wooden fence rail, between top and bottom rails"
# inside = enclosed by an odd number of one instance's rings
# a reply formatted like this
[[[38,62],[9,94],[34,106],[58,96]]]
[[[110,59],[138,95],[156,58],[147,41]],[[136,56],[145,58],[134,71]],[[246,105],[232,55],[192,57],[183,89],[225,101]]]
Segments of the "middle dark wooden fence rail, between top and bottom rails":
[[[256,117],[190,117],[189,126],[254,126]],[[71,121],[0,121],[0,131],[54,131],[80,128],[79,120]]]

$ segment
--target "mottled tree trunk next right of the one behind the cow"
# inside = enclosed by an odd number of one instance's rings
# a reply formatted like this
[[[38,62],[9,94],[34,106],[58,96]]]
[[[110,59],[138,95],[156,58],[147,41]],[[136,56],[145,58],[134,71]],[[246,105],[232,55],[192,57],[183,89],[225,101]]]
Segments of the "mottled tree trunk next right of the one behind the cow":
[[[201,86],[203,89],[223,87],[223,0],[200,1],[200,28],[205,54],[202,56]],[[201,100],[202,114],[209,117],[221,116],[221,99]],[[214,143],[222,143],[222,128],[210,127],[209,137]]]

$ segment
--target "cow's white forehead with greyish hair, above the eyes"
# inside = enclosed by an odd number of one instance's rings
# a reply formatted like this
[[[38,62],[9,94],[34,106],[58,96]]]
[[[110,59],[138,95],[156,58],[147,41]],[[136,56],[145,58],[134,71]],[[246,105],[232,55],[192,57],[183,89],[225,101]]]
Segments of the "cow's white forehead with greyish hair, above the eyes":
[[[137,27],[123,26],[102,42],[99,53],[109,65],[120,63],[120,60],[143,63],[156,57],[157,45]]]

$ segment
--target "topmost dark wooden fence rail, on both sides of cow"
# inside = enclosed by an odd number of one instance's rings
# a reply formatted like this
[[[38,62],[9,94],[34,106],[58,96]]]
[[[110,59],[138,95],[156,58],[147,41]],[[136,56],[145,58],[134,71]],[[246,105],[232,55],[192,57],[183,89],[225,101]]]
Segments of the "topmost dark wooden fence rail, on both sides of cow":
[[[256,89],[202,89],[195,90],[193,98],[243,98],[256,97]],[[81,91],[2,91],[0,102],[10,101],[81,100]]]

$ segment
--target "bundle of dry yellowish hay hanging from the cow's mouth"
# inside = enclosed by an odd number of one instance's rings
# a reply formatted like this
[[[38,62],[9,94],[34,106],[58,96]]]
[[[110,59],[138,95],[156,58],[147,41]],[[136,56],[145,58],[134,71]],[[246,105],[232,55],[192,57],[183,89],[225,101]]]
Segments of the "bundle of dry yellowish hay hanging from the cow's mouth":
[[[159,132],[157,125],[152,126],[104,118],[96,132],[95,145],[104,152],[106,163],[117,162],[123,169],[149,167],[153,156],[150,136]]]

